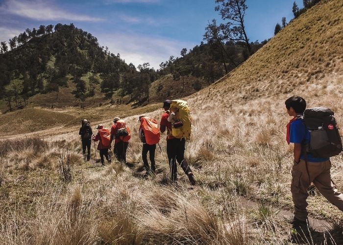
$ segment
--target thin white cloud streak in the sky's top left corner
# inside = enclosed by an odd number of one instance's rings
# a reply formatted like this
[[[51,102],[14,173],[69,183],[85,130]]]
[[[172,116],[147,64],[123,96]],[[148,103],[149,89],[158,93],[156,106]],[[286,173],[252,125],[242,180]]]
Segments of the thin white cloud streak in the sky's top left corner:
[[[103,20],[101,18],[65,11],[57,6],[52,5],[51,2],[44,0],[7,0],[0,7],[0,11],[38,21],[70,20],[83,22],[99,22]]]

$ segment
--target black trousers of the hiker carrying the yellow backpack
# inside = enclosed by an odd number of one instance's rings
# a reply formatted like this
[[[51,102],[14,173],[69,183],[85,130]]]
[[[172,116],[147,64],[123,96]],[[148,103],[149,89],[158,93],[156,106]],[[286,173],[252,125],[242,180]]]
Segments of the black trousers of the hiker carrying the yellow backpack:
[[[180,139],[167,140],[167,156],[168,156],[168,161],[169,161],[169,167],[171,169],[172,181],[177,180],[176,161],[180,164],[183,172],[185,172],[186,174],[188,174],[188,172],[192,172],[192,170],[188,166],[188,163],[184,157],[185,145],[186,145],[186,140],[184,138],[182,140]]]

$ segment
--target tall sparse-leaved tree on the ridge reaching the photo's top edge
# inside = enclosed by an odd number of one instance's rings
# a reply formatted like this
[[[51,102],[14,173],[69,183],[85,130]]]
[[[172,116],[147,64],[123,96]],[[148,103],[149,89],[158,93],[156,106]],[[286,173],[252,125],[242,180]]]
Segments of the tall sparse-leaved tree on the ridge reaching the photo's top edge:
[[[244,25],[245,10],[248,8],[245,1],[216,0],[218,5],[215,7],[215,10],[221,13],[222,20],[228,21],[226,24],[222,24],[225,27],[224,34],[226,39],[235,43],[244,42],[249,54],[251,54],[251,47]]]

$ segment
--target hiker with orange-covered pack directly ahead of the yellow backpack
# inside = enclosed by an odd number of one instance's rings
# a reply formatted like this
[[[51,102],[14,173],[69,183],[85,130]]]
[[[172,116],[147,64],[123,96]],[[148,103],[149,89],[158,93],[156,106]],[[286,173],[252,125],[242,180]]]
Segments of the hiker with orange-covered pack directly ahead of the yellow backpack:
[[[147,174],[155,174],[155,150],[156,144],[160,141],[160,129],[158,128],[158,123],[156,119],[152,117],[147,117],[146,115],[139,116],[138,122],[141,123],[139,126],[139,138],[143,143],[142,148],[142,159],[144,167]],[[149,159],[151,163],[151,168],[147,163],[147,152],[149,152]]]

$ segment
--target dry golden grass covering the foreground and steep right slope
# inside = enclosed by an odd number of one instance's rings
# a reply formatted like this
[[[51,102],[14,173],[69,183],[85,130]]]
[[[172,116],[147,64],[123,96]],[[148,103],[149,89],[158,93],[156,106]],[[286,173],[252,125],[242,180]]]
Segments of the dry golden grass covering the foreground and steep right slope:
[[[156,151],[157,175],[144,177],[137,122],[144,107],[125,118],[132,132],[127,165],[100,168],[81,161],[77,128],[47,134],[44,142],[0,142],[0,242],[342,244],[343,213],[314,186],[309,234],[296,233],[283,217],[293,209],[284,100],[300,95],[310,107],[332,108],[343,123],[342,10],[340,0],[322,1],[238,69],[185,98],[193,118],[185,155],[195,187],[181,170],[178,184],[169,183],[164,136],[162,152]],[[147,115],[160,119],[156,109]],[[110,117],[104,125],[111,125]],[[342,155],[331,162],[342,192]],[[60,171],[67,163],[72,179]]]

